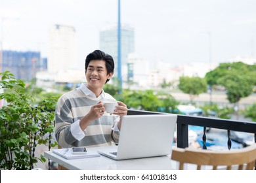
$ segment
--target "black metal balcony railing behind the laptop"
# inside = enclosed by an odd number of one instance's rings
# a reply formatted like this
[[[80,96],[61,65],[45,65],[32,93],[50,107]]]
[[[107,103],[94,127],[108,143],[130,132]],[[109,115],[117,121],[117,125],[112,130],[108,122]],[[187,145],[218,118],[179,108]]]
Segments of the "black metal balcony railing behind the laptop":
[[[150,112],[143,110],[128,110],[128,115],[143,115],[143,114],[167,114],[162,112]],[[242,122],[234,120],[223,120],[219,118],[205,118],[198,116],[186,116],[178,114],[177,118],[177,146],[179,148],[188,147],[188,125],[196,125],[203,127],[203,148],[206,149],[205,142],[207,139],[206,128],[225,129],[227,131],[228,149],[232,146],[230,131],[241,131],[245,133],[253,133],[254,141],[256,142],[256,122]]]

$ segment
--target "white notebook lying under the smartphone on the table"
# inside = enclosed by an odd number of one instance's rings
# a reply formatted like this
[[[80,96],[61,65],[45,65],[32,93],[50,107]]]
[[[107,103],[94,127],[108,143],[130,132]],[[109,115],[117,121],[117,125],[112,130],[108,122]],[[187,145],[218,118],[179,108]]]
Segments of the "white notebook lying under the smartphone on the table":
[[[61,149],[54,149],[53,152],[55,154],[58,154],[58,156],[61,156],[66,159],[79,159],[79,158],[93,158],[93,157],[99,157],[100,154],[96,151],[88,151],[87,154],[72,154],[71,148],[61,148]]]

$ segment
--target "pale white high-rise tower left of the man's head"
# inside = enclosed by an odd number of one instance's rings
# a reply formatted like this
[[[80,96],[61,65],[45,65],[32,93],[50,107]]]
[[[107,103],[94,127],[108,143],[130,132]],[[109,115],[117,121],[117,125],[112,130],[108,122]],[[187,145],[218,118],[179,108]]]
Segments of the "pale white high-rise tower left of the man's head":
[[[77,40],[74,27],[53,25],[50,28],[47,66],[49,73],[77,67]]]

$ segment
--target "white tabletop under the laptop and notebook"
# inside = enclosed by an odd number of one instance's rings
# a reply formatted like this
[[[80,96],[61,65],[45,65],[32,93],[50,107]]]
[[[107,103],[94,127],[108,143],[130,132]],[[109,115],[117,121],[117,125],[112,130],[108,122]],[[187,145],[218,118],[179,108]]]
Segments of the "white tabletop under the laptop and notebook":
[[[106,147],[104,147],[106,148]],[[99,150],[97,148],[87,148],[87,150]],[[176,169],[175,161],[170,156],[160,156],[154,158],[138,158],[114,160],[100,155],[95,158],[65,159],[51,151],[45,151],[45,157],[72,170],[168,170]]]

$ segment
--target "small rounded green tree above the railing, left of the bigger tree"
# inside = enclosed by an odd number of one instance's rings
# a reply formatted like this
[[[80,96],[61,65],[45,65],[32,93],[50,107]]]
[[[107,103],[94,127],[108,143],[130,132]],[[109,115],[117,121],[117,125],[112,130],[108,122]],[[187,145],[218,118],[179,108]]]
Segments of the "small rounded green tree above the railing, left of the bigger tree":
[[[207,83],[204,78],[198,76],[182,76],[179,79],[179,89],[190,96],[190,103],[200,93],[207,92]]]

